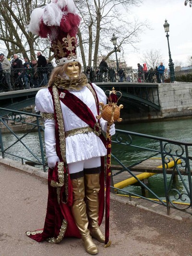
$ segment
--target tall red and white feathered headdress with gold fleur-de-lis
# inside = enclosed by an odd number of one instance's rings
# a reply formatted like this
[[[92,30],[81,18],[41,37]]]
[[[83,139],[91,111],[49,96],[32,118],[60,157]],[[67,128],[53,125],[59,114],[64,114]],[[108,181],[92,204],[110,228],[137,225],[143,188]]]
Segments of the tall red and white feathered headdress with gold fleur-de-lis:
[[[57,66],[79,61],[76,34],[80,17],[73,0],[51,0],[44,8],[31,13],[28,30],[43,38],[50,38]]]

